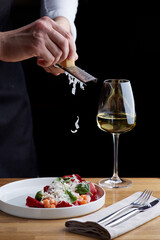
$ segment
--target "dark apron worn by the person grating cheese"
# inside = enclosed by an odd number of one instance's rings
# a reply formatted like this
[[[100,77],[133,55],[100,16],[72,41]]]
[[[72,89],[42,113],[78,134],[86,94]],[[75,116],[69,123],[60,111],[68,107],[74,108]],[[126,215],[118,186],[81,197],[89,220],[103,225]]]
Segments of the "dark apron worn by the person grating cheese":
[[[12,1],[0,4],[0,31],[7,31]],[[0,177],[36,177],[32,116],[21,64],[0,61]]]

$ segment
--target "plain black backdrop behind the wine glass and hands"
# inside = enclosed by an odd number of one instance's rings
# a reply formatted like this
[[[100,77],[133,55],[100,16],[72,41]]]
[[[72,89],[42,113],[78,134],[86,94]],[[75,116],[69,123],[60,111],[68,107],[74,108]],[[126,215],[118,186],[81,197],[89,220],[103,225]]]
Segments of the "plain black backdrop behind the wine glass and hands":
[[[126,78],[133,88],[137,125],[120,136],[119,175],[158,177],[160,17],[146,5],[99,3],[80,0],[76,17],[77,65],[96,76],[97,84],[77,88],[74,96],[66,76],[46,73],[36,59],[23,62],[40,176],[112,175],[112,136],[98,129],[96,113],[103,81]],[[39,1],[16,0],[12,17],[14,27],[38,19]],[[73,134],[77,116],[80,128]]]

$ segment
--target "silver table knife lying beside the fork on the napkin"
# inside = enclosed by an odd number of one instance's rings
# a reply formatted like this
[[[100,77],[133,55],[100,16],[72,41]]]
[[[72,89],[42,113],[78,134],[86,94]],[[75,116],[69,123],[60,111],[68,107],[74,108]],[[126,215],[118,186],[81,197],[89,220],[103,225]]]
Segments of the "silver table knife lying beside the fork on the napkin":
[[[160,198],[157,198],[156,200],[150,202],[149,204],[143,206],[143,207],[139,207],[139,208],[136,208],[112,221],[110,221],[109,223],[105,224],[105,226],[107,227],[114,227],[124,221],[126,221],[127,219],[135,216],[137,213],[141,213],[141,212],[144,212],[146,211],[147,209],[151,208],[151,207],[154,207],[157,203],[159,203],[160,201]]]

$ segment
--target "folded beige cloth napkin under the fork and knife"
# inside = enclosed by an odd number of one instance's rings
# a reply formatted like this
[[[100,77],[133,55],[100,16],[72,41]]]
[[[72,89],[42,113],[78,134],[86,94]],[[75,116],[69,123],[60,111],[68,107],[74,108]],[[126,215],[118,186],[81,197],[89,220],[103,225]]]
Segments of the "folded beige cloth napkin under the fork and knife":
[[[97,223],[98,220],[136,200],[140,194],[141,192],[136,192],[133,195],[95,213],[81,218],[70,219],[66,221],[65,225],[71,232],[98,239],[107,240],[118,237],[160,215],[160,203],[158,203],[154,207],[149,208],[144,212],[138,212],[135,216],[113,227],[105,226],[106,223]],[[149,202],[155,199],[155,197],[150,197]]]

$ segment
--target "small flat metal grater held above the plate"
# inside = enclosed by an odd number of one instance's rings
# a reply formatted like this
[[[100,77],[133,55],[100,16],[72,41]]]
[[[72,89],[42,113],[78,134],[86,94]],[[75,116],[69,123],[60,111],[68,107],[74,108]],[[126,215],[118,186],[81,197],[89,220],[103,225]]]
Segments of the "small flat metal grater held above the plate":
[[[60,64],[56,63],[56,66],[62,68],[64,71],[68,72],[72,76],[78,78],[81,82],[87,83],[90,81],[97,82],[97,78],[93,77],[91,74],[87,73],[86,71],[82,70],[77,66],[71,67],[62,67]]]

